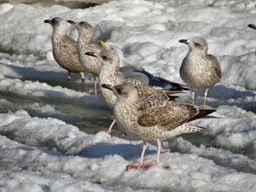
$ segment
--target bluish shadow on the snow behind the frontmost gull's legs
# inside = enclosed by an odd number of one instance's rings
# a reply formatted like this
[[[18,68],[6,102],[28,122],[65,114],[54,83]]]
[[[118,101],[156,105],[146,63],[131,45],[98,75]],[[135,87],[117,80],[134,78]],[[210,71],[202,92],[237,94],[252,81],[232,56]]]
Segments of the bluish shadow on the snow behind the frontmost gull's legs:
[[[96,143],[96,145],[86,148],[79,153],[80,156],[88,158],[102,158],[106,155],[119,154],[125,160],[139,158],[143,149],[143,144],[112,144],[112,143]],[[146,154],[155,154],[156,150],[147,149]]]

